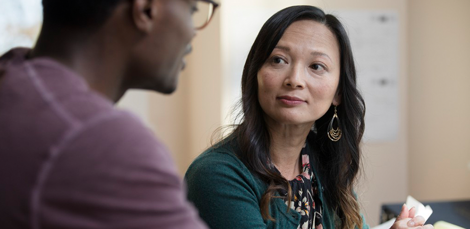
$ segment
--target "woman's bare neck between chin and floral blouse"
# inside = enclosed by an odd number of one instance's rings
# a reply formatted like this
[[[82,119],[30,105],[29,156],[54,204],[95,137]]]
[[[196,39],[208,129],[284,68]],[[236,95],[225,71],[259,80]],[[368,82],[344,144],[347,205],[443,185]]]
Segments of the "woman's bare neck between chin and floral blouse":
[[[271,159],[286,180],[293,180],[302,172],[300,154],[313,123],[292,125],[271,119],[266,124],[271,135]]]

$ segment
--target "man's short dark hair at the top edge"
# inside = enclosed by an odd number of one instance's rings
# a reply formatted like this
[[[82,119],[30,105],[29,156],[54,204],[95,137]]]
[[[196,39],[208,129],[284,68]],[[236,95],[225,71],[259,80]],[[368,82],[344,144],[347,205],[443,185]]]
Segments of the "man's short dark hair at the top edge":
[[[102,25],[122,0],[43,0],[44,23],[73,28]]]

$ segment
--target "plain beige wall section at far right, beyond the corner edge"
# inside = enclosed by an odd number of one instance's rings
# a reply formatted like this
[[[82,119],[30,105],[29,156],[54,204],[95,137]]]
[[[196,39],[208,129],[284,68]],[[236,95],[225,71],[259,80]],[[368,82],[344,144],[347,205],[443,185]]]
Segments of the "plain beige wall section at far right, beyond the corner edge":
[[[409,1],[409,192],[470,199],[470,1]]]

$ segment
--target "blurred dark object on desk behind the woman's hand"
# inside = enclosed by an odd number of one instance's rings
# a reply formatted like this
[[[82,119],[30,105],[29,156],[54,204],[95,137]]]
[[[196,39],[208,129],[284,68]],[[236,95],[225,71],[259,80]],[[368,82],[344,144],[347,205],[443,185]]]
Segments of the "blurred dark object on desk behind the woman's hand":
[[[437,221],[446,221],[459,227],[470,229],[470,200],[452,202],[423,202],[432,208],[432,215],[426,224],[434,224]],[[403,204],[382,205],[381,223],[384,223],[400,213]]]

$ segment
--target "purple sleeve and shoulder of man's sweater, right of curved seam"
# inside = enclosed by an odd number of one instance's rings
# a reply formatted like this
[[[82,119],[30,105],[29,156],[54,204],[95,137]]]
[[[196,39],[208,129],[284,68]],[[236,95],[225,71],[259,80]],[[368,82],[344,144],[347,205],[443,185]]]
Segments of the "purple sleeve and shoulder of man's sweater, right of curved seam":
[[[59,145],[40,185],[44,228],[205,229],[168,151],[133,115],[85,122]]]

